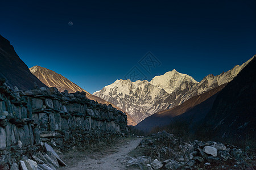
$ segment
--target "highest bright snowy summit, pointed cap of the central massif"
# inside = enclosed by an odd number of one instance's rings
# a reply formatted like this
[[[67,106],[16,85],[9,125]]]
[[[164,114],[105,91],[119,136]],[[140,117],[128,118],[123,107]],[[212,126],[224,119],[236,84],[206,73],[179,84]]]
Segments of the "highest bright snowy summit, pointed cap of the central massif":
[[[184,83],[189,83],[193,86],[193,84],[198,83],[192,76],[187,74],[182,74],[177,72],[175,69],[172,71],[168,71],[163,75],[155,76],[150,84],[163,88],[168,94],[174,92],[178,87],[180,87]]]

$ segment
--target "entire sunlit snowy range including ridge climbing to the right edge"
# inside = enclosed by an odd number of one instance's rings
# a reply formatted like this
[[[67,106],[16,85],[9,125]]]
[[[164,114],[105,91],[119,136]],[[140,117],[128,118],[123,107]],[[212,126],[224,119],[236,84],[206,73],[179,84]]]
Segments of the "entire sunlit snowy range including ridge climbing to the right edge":
[[[93,95],[125,110],[138,124],[151,114],[173,108],[193,96],[230,82],[251,59],[220,75],[207,75],[201,82],[197,82],[192,76],[172,70],[155,76],[150,82],[116,80]]]

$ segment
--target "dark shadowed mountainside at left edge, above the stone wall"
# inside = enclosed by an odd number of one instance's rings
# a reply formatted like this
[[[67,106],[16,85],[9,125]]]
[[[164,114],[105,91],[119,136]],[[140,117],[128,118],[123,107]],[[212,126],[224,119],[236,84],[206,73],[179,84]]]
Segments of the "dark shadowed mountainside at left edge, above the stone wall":
[[[0,78],[6,79],[7,86],[19,90],[30,90],[34,82],[39,87],[47,87],[35,75],[30,73],[27,65],[16,54],[10,41],[0,35]]]

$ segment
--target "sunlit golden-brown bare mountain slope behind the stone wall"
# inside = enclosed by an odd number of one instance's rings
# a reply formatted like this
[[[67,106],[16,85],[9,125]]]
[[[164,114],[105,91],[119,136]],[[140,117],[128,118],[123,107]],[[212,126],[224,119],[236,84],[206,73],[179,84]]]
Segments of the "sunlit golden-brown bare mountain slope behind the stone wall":
[[[60,92],[64,92],[65,90],[68,90],[68,92],[70,93],[75,93],[76,91],[85,92],[86,97],[88,99],[97,101],[98,103],[101,103],[101,104],[106,104],[106,105],[111,104],[113,105],[114,108],[117,108],[122,112],[125,112],[122,109],[115,106],[114,104],[109,103],[109,101],[106,101],[104,99],[101,99],[98,96],[94,96],[90,94],[89,92],[79,87],[77,84],[71,82],[71,80],[65,78],[61,74],[56,73],[55,71],[52,71],[40,66],[31,67],[30,71],[48,87],[56,87]],[[135,125],[135,121],[129,114],[127,114],[127,119],[128,119],[128,125]]]

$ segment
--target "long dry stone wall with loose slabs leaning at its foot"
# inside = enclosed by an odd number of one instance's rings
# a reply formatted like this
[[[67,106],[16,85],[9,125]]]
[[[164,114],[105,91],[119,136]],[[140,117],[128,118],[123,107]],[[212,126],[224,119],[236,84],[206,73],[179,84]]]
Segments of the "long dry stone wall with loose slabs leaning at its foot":
[[[0,80],[0,169],[56,169],[65,163],[51,146],[71,148],[127,131],[125,113],[87,99],[85,92],[36,84],[13,91]]]

